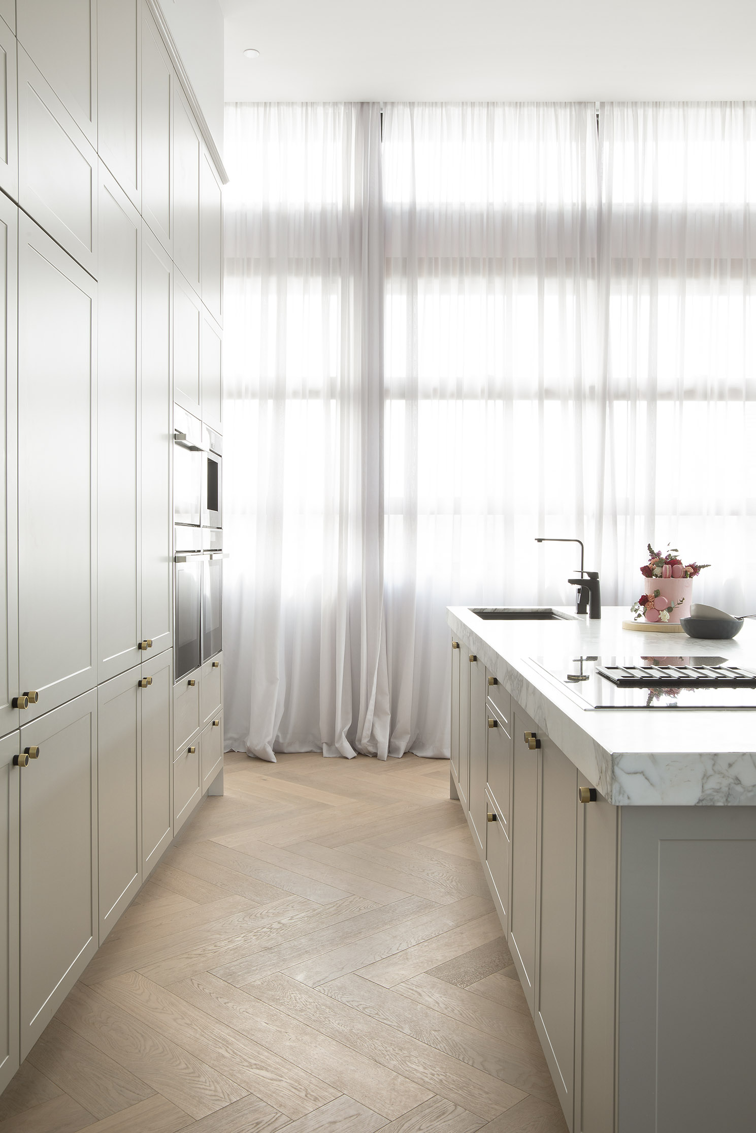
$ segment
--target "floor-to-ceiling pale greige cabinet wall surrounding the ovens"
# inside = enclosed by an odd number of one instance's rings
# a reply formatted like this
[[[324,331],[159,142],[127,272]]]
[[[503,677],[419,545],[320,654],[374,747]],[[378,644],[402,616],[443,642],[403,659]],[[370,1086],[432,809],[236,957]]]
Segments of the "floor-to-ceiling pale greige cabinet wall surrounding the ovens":
[[[175,281],[217,426],[224,180],[154,0],[0,0],[0,1090],[178,828]]]

